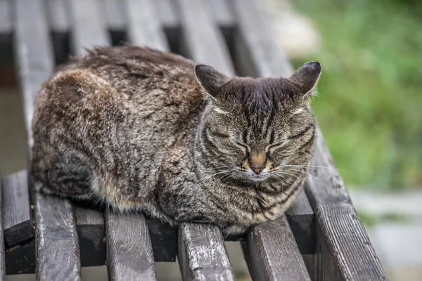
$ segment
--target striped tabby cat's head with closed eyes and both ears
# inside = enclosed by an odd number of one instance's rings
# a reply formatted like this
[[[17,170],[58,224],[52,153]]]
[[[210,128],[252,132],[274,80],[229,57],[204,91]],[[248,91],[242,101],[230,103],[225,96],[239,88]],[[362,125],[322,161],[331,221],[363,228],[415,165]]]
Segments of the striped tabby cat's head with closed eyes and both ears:
[[[319,63],[306,63],[287,79],[231,78],[209,65],[195,72],[207,99],[199,149],[212,173],[252,183],[286,178],[309,163],[316,129],[309,98]]]

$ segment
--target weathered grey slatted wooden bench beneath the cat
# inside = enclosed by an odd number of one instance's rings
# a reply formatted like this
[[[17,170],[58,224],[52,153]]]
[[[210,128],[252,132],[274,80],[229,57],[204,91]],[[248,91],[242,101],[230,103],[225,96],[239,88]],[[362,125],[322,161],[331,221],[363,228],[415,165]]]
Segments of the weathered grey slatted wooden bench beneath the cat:
[[[84,53],[84,47],[129,41],[181,53],[230,75],[287,77],[292,67],[259,2],[0,0],[0,38],[6,38],[0,50],[13,45],[15,51],[27,148],[34,95],[57,63],[69,53]],[[252,279],[385,280],[320,132],[312,166],[285,216],[233,237],[241,240]],[[215,226],[172,228],[142,214],[35,194],[28,183],[26,171],[1,179],[0,280],[20,273],[81,280],[81,266],[104,264],[110,280],[155,280],[155,261],[176,256],[184,280],[235,280]]]

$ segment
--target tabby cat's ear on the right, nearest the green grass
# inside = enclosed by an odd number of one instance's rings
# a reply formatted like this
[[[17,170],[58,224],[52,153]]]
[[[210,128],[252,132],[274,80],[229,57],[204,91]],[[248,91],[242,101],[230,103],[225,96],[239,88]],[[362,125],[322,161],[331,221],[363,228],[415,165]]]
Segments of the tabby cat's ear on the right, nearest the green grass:
[[[301,94],[307,98],[312,95],[320,76],[321,65],[318,62],[312,62],[299,67],[289,80],[298,85]]]

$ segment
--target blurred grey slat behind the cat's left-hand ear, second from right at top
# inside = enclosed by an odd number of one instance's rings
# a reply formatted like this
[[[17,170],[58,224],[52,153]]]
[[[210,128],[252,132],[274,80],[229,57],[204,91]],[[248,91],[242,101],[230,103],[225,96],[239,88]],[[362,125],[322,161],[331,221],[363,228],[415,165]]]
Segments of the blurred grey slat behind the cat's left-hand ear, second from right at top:
[[[181,50],[196,63],[234,75],[229,50],[207,13],[203,0],[179,0],[183,41]]]

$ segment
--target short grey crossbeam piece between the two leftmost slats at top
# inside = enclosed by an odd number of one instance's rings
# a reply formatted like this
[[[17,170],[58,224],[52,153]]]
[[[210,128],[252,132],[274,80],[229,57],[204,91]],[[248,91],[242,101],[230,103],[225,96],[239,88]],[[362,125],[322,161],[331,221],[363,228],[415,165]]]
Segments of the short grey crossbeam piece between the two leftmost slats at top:
[[[53,32],[65,33],[70,30],[70,18],[66,0],[44,0],[47,18]]]

